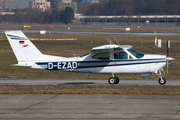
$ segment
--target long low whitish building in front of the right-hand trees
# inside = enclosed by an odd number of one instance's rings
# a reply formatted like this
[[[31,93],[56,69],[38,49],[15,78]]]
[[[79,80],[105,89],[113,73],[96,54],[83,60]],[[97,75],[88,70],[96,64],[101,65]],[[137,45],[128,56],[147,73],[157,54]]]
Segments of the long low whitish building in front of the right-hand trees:
[[[180,15],[130,15],[130,16],[83,16],[75,14],[75,19],[87,24],[115,25],[179,25]]]

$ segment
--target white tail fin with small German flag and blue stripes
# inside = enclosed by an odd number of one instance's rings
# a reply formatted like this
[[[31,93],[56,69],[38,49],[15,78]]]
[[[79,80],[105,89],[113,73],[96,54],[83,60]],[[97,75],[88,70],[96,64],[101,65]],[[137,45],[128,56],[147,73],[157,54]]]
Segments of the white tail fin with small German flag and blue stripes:
[[[43,54],[22,31],[5,31],[18,62],[38,61]]]

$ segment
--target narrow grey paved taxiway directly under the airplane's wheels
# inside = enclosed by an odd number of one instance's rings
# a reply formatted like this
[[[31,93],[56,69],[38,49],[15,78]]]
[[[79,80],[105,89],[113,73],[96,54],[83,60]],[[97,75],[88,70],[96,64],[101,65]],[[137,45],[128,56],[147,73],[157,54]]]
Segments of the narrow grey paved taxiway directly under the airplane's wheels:
[[[109,85],[108,80],[92,79],[12,79],[0,78],[0,85]],[[159,85],[158,80],[120,80],[119,85]],[[166,85],[180,85],[180,80],[167,80]]]

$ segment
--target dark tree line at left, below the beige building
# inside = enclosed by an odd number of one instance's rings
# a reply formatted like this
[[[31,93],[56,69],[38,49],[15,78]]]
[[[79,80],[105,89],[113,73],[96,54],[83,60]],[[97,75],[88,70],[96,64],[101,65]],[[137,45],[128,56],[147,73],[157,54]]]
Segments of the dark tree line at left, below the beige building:
[[[74,19],[74,11],[66,7],[62,11],[46,10],[42,12],[38,8],[15,10],[14,15],[0,15],[0,22],[8,23],[71,23]]]

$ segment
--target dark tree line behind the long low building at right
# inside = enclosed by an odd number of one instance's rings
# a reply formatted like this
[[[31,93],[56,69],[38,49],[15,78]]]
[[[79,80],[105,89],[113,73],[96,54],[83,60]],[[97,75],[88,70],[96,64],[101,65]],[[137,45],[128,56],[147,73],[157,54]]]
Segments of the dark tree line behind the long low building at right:
[[[180,0],[100,0],[84,3],[84,15],[179,15]]]

